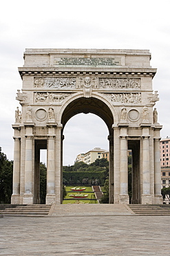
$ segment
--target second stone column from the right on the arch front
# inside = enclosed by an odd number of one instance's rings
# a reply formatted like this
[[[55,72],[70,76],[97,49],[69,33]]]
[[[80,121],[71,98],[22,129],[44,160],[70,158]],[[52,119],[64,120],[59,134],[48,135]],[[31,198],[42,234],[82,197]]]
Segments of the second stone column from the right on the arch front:
[[[142,204],[152,203],[150,190],[149,136],[142,138]]]

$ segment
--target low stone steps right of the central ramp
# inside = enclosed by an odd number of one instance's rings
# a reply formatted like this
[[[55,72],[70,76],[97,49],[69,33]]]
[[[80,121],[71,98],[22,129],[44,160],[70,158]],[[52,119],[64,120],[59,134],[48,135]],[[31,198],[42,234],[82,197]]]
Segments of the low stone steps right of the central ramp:
[[[130,204],[129,208],[135,213],[140,215],[170,215],[170,205],[140,205]]]

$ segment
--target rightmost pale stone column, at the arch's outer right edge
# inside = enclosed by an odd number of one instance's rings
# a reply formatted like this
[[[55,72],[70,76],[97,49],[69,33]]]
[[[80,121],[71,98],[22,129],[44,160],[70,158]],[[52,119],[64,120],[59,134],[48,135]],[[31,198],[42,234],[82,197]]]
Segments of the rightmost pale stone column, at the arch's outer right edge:
[[[160,170],[160,138],[154,139],[154,203],[162,203],[161,195],[161,170]]]

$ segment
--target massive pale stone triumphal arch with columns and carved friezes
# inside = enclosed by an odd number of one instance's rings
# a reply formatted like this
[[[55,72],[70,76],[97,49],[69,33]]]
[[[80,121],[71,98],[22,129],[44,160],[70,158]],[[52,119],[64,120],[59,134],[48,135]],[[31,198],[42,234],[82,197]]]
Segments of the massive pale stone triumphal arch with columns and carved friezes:
[[[144,50],[25,50],[17,91],[21,111],[15,111],[12,125],[12,203],[40,203],[40,149],[47,149],[46,203],[62,203],[63,131],[77,113],[94,113],[108,127],[109,202],[129,203],[131,149],[131,203],[162,203],[162,126],[153,107],[159,99],[150,60]]]

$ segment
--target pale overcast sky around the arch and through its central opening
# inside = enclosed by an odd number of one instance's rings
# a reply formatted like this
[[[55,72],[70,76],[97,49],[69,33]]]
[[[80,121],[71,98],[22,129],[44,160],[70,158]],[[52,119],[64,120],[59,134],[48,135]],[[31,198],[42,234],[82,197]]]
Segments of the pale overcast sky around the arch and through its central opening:
[[[158,91],[158,121],[162,138],[170,136],[170,2],[142,1],[3,1],[0,17],[0,147],[13,159],[15,100],[22,81],[25,48],[148,49],[151,66],[158,68],[153,90]],[[20,107],[21,109],[21,107]],[[97,127],[97,129],[96,129]],[[64,130],[64,164],[94,147],[108,149],[103,120],[80,114]],[[89,140],[87,140],[87,137]]]

